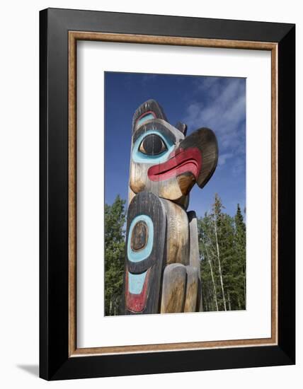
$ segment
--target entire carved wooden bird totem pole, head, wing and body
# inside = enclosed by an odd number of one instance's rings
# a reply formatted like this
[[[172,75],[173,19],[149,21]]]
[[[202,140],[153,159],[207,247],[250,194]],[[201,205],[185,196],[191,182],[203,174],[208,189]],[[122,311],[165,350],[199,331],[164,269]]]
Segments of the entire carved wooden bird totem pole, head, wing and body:
[[[125,258],[125,313],[202,309],[197,219],[189,193],[217,166],[217,139],[201,128],[168,123],[155,100],[132,120]]]

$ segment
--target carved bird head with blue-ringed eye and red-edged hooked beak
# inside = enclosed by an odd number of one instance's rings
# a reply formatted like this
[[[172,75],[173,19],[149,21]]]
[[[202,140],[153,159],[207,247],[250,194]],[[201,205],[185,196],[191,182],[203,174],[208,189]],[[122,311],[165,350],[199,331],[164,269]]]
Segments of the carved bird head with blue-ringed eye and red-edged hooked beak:
[[[217,139],[210,129],[186,135],[186,125],[168,123],[155,100],[142,104],[133,117],[130,189],[152,192],[185,205],[198,183],[203,187],[217,166]]]

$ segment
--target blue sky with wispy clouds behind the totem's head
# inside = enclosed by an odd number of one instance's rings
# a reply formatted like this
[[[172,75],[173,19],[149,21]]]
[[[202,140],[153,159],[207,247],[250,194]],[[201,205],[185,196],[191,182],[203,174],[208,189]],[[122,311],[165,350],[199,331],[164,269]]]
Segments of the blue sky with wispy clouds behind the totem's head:
[[[224,211],[246,206],[246,80],[210,76],[105,72],[105,202],[117,194],[127,199],[132,115],[153,98],[171,124],[188,124],[188,134],[212,129],[218,139],[219,162],[201,190],[195,185],[190,205],[198,216],[209,211],[217,192]]]

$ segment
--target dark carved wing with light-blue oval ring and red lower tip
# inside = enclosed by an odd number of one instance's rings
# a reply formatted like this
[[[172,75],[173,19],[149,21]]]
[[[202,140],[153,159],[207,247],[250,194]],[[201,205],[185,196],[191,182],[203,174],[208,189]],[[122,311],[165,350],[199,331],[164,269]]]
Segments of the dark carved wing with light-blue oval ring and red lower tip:
[[[143,239],[135,235],[144,228],[147,242],[143,247]],[[132,250],[134,245],[142,247]],[[125,313],[159,313],[165,248],[164,205],[153,193],[141,192],[132,199],[127,211]]]

